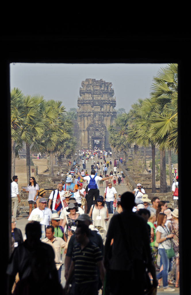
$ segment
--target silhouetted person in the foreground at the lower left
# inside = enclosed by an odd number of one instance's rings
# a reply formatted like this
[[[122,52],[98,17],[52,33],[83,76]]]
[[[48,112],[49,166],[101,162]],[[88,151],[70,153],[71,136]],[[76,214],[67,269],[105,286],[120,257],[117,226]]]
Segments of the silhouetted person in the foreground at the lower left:
[[[28,223],[25,232],[27,239],[15,248],[7,267],[7,294],[11,294],[17,273],[19,282],[14,294],[50,294],[51,286],[56,286],[57,293],[60,294],[62,287],[58,280],[54,250],[40,241],[40,223]]]

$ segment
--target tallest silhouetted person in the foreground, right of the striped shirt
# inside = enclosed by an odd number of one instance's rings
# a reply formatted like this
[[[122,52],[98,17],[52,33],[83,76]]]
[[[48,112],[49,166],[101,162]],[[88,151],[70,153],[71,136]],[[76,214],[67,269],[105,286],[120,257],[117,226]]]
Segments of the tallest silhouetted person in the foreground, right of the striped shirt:
[[[110,294],[144,294],[145,289],[157,286],[146,221],[132,212],[134,194],[121,195],[123,212],[111,218],[105,243],[106,285]],[[113,244],[111,246],[111,242]],[[152,274],[153,285],[149,276]],[[120,284],[116,284],[115,282]]]

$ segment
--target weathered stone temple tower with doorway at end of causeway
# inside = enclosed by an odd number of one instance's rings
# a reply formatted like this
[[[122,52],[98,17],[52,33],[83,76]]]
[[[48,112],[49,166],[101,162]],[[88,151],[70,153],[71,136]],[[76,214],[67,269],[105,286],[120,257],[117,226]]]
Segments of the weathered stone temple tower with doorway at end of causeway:
[[[112,83],[103,79],[85,79],[81,83],[78,97],[77,128],[75,136],[78,147],[110,149],[107,127],[114,124],[117,117],[116,98]]]

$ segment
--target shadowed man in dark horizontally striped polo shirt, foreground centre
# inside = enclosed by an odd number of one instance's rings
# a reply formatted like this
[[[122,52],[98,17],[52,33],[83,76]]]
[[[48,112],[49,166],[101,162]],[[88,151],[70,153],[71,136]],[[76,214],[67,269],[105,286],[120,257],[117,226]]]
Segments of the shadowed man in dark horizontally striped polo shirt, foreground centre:
[[[75,276],[75,294],[98,294],[98,269],[102,284],[105,269],[100,248],[89,240],[89,228],[86,224],[78,224],[75,231],[78,245],[74,247],[72,263],[68,272],[65,290],[68,291],[70,280]]]

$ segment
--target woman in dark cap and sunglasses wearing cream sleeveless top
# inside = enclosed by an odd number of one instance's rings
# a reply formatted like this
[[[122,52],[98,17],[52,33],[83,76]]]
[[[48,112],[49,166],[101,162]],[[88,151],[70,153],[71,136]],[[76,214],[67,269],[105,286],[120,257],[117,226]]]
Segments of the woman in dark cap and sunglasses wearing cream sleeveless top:
[[[97,197],[96,204],[92,205],[88,215],[92,217],[92,223],[100,232],[103,244],[105,244],[107,232],[106,221],[109,220],[109,213],[107,206],[104,203],[103,196]]]

